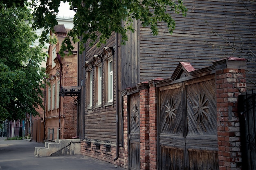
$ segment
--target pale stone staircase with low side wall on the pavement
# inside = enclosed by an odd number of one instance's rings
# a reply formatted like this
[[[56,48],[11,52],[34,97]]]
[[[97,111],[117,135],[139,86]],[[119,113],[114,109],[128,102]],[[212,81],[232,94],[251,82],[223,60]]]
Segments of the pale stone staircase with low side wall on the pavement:
[[[45,142],[45,147],[35,148],[35,157],[80,155],[80,139],[56,139],[55,142]]]

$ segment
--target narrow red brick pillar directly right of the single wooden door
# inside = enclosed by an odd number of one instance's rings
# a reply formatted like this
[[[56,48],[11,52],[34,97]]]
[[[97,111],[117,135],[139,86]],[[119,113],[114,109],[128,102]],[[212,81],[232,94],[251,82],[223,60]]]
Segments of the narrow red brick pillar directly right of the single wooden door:
[[[146,87],[146,86],[145,86]],[[148,88],[139,91],[140,112],[140,169],[149,170]]]

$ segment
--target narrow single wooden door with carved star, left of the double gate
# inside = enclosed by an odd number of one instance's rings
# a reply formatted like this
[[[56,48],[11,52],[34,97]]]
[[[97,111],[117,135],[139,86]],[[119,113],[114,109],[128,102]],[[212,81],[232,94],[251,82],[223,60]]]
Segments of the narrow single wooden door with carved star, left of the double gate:
[[[139,170],[139,93],[129,96],[129,109],[129,168]]]

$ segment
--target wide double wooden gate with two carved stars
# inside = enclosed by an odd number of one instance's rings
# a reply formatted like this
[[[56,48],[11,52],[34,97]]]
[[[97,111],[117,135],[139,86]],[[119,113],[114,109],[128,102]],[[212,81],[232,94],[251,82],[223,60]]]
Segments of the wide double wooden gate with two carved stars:
[[[215,76],[172,82],[158,88],[158,169],[217,170]]]

